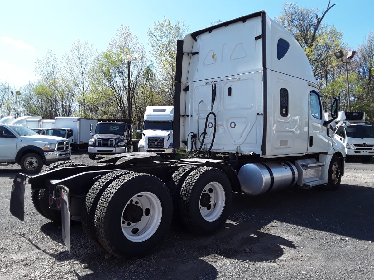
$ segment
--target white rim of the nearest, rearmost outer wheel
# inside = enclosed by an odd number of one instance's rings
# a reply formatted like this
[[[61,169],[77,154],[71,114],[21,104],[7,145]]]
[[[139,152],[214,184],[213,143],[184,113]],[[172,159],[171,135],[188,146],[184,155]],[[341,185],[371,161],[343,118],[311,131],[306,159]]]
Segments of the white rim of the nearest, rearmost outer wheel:
[[[143,242],[159,228],[161,217],[162,206],[159,198],[150,192],[137,193],[123,208],[122,232],[132,242]]]

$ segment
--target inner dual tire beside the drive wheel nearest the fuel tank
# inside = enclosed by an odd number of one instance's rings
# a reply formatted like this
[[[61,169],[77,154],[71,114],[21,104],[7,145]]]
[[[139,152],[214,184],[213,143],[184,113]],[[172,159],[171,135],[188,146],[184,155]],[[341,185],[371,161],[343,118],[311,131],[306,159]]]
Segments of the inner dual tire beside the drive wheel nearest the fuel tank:
[[[168,189],[171,193],[171,198],[173,199],[173,224],[175,225],[181,225],[181,216],[179,213],[179,199],[181,196],[182,185],[184,183],[184,180],[186,180],[187,176],[190,175],[190,173],[196,168],[199,168],[199,166],[186,165],[180,167],[173,173],[168,182]]]

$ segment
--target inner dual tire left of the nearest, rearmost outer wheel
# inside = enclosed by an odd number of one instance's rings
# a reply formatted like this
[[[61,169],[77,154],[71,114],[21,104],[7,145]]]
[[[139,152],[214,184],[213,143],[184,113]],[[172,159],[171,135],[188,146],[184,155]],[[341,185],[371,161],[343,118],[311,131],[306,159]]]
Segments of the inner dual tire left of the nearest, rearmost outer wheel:
[[[86,234],[87,238],[96,245],[100,246],[100,242],[96,236],[95,228],[95,211],[99,200],[104,191],[111,183],[113,183],[114,180],[129,173],[133,172],[121,170],[105,174],[92,185],[91,189],[86,195],[85,202],[82,206],[82,214],[80,220],[82,222],[83,232]]]

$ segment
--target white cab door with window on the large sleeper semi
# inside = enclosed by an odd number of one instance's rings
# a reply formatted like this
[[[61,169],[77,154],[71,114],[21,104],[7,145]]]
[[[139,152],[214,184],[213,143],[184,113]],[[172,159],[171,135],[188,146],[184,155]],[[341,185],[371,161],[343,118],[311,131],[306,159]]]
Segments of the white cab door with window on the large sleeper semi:
[[[308,153],[327,152],[330,138],[327,135],[327,128],[323,126],[324,111],[321,102],[321,93],[316,88],[309,88],[309,138]]]

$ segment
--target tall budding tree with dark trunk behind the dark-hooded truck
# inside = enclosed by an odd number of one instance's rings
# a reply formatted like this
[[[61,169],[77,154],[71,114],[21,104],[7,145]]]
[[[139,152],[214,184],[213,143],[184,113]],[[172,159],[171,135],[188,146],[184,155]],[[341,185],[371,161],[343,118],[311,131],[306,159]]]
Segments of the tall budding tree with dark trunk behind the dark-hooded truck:
[[[144,46],[139,44],[138,38],[128,27],[121,25],[108,49],[93,65],[93,95],[100,97],[110,92],[116,117],[132,120],[134,100],[142,93],[142,88],[148,82],[144,75],[147,65],[148,56]]]

